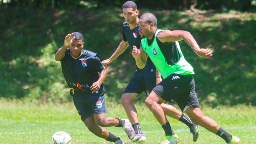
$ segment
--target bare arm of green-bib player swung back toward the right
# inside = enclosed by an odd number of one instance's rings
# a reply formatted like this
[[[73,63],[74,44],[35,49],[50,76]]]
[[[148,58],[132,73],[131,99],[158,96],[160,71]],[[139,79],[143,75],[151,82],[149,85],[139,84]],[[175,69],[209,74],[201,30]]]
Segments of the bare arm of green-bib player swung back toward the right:
[[[191,46],[191,48],[194,50],[194,52],[203,57],[208,58],[212,56],[212,51],[210,49],[204,49],[200,48],[199,45],[196,43],[196,40],[194,37],[188,32],[183,30],[164,30],[162,33],[160,33],[157,38],[165,43],[165,42],[174,42],[174,41],[180,41],[185,40],[188,45]]]

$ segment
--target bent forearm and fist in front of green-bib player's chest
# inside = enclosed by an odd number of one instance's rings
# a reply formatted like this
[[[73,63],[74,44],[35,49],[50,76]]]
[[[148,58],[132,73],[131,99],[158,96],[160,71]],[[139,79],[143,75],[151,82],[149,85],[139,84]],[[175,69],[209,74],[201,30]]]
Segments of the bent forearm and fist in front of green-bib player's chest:
[[[136,61],[136,65],[138,68],[143,69],[146,65],[146,61],[148,58],[148,54],[144,52],[140,45],[140,49],[138,50],[137,47],[134,45],[132,47],[132,56],[134,57]]]

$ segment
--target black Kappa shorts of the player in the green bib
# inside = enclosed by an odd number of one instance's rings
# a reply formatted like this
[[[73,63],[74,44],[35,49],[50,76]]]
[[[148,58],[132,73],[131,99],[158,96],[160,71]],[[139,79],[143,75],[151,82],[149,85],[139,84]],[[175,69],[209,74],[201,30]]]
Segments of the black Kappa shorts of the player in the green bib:
[[[192,75],[171,74],[159,83],[153,91],[166,101],[175,100],[184,112],[184,108],[199,108],[195,92],[195,80]]]

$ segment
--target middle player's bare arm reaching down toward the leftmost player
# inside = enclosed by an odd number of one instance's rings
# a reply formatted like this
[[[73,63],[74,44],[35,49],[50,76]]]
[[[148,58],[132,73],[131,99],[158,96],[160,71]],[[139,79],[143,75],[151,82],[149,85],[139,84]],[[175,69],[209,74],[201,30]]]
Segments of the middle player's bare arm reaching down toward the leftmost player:
[[[119,46],[117,47],[116,51],[111,55],[110,58],[108,58],[107,60],[103,60],[102,64],[107,65],[109,63],[111,63],[113,60],[115,60],[120,54],[122,54],[125,49],[129,46],[128,41],[122,41]]]

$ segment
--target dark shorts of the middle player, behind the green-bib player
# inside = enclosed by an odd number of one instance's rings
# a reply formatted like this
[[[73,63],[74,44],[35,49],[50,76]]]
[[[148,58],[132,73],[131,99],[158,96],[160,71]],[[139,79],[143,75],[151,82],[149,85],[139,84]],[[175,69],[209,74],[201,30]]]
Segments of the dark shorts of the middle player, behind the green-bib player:
[[[134,76],[125,88],[124,93],[138,93],[140,95],[140,93],[144,91],[148,96],[155,86],[156,77],[145,78]]]

